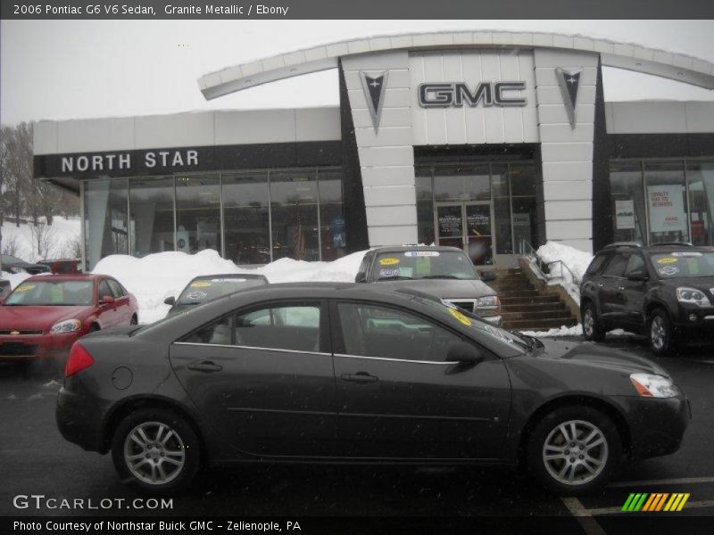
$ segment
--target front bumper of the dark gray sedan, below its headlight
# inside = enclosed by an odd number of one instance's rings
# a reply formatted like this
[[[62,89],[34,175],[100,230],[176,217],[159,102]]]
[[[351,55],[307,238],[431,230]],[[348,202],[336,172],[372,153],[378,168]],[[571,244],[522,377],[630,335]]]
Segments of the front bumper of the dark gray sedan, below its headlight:
[[[670,455],[682,445],[692,418],[692,407],[685,396],[663,399],[620,396],[619,403],[629,423],[630,458]]]

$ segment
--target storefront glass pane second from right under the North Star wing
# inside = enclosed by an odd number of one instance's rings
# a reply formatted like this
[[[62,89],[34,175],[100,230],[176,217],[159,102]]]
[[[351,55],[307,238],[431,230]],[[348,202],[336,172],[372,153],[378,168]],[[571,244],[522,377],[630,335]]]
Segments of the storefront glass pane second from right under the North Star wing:
[[[273,260],[319,260],[318,185],[311,170],[270,173]]]

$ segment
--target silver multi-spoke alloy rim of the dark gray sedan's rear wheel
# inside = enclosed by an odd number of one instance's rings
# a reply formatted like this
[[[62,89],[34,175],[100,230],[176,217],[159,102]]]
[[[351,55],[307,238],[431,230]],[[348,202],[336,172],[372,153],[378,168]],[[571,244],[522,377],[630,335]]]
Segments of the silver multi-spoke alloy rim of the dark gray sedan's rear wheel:
[[[162,485],[179,476],[186,463],[179,433],[161,422],[145,422],[124,440],[124,462],[139,481]]]

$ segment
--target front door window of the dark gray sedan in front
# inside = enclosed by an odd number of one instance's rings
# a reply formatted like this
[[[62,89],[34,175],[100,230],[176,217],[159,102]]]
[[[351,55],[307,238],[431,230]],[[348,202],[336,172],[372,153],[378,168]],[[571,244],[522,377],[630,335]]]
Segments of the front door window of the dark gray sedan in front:
[[[403,310],[359,303],[339,303],[337,309],[347,355],[441,362],[449,346],[461,341]]]

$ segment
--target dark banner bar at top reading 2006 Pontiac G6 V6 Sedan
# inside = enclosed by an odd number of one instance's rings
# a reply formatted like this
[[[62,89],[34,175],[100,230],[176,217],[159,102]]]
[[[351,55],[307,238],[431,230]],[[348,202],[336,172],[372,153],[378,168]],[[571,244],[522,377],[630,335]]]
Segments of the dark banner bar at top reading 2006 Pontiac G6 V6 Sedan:
[[[25,20],[714,19],[711,0],[3,0]]]

